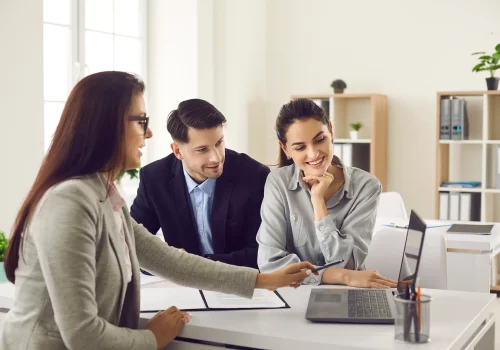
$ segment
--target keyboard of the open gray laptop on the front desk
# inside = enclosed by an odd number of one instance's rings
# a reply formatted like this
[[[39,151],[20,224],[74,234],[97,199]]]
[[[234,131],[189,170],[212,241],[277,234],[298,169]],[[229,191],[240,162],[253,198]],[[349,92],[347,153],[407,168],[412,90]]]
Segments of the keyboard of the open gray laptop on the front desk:
[[[391,309],[385,290],[349,289],[350,318],[390,318]]]

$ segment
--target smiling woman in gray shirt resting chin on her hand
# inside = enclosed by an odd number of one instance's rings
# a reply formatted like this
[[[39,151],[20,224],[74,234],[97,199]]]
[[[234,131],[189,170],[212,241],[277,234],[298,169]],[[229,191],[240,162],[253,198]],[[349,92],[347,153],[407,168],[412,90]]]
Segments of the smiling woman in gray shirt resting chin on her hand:
[[[389,288],[396,282],[365,271],[382,187],[376,177],[344,166],[333,155],[332,125],[313,101],[285,104],[276,120],[279,169],[265,185],[257,234],[262,272],[307,260],[337,267],[310,276],[308,284]]]

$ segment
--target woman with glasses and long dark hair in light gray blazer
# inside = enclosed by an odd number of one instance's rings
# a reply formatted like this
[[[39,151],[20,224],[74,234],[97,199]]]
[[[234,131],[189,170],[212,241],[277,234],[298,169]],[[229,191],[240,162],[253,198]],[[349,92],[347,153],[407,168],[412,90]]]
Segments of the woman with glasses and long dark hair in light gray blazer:
[[[152,136],[144,84],[122,72],[82,79],[17,216],[5,259],[16,284],[0,348],[159,349],[189,321],[175,307],[139,321],[139,266],[175,283],[252,297],[300,283],[309,263],[275,273],[180,252],[129,215],[114,180]]]

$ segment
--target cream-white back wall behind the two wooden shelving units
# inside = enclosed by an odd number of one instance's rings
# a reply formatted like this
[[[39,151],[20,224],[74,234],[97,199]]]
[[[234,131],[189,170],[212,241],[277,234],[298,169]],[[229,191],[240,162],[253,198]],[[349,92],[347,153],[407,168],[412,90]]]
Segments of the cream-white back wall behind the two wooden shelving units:
[[[500,42],[500,1],[266,5],[216,1],[222,15],[215,16],[225,21],[216,24],[224,30],[214,38],[215,96],[229,119],[227,138],[237,150],[272,164],[274,121],[291,94],[330,93],[335,78],[347,82],[346,92],[387,94],[388,190],[400,192],[408,208],[433,217],[436,91],[485,89],[486,75],[471,73],[470,53]],[[233,134],[250,120],[258,122],[258,133],[250,128]]]

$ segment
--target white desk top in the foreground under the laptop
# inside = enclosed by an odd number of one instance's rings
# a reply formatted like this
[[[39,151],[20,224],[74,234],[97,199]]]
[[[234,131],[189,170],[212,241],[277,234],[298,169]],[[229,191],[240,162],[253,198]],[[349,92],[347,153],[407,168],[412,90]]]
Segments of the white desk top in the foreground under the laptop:
[[[335,287],[331,287],[335,288]],[[279,292],[290,309],[193,312],[181,337],[260,349],[406,349],[394,325],[316,324],[305,319],[311,287]],[[432,296],[431,342],[421,350],[461,349],[483,321],[494,316],[495,296],[424,290]],[[142,314],[150,318],[153,314]]]

